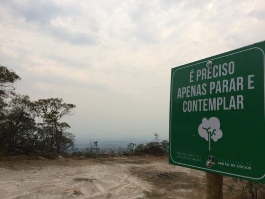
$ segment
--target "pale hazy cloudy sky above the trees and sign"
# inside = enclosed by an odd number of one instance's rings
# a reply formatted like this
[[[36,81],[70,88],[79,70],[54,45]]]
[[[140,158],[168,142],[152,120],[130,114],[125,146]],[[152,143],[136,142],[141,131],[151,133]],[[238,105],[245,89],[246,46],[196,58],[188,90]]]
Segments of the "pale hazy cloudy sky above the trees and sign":
[[[0,64],[77,139],[168,139],[171,68],[263,40],[264,0],[0,0]]]

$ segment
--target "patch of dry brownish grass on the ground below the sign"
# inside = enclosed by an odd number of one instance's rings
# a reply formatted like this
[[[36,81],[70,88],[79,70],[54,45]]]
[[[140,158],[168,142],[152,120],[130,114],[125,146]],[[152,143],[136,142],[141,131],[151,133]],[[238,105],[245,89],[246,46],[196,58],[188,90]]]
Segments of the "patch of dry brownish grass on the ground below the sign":
[[[139,199],[203,199],[205,198],[206,178],[196,177],[185,172],[161,172],[153,167],[132,167],[130,172],[151,183],[154,189],[145,191],[144,197]],[[240,199],[237,192],[230,193],[227,185],[228,177],[224,177],[224,199]]]

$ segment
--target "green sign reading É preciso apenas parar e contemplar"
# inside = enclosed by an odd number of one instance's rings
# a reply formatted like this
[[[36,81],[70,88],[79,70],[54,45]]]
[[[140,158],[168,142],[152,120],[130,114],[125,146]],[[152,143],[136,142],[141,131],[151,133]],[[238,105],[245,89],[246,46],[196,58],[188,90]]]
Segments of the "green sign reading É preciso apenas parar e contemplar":
[[[172,69],[169,163],[265,183],[265,42]]]

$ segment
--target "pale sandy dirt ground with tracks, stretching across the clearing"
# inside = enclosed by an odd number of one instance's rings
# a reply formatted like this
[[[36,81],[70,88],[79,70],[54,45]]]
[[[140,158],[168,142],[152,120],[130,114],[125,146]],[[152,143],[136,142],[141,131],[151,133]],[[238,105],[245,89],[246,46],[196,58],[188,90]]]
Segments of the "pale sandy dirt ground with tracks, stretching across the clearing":
[[[0,199],[203,199],[205,173],[167,158],[11,160],[0,162]],[[235,199],[224,179],[224,199]]]

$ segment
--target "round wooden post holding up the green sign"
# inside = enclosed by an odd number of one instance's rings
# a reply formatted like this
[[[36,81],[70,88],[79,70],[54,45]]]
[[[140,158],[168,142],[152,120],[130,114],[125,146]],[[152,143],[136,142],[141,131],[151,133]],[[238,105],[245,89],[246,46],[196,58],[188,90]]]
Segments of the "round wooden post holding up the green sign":
[[[223,176],[206,172],[206,199],[223,199]]]

